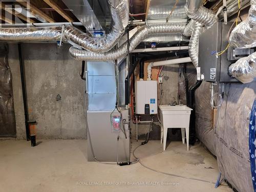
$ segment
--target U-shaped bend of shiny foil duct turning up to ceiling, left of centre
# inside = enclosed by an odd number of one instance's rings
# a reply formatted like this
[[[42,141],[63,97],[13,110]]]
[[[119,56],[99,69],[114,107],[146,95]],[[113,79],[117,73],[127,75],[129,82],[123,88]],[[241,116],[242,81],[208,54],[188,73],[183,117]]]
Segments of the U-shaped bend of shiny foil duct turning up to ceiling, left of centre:
[[[88,51],[103,53],[111,50],[128,25],[129,2],[128,0],[110,0],[110,5],[112,22],[108,34],[101,37],[91,37],[76,28],[67,27],[64,31],[65,37]]]

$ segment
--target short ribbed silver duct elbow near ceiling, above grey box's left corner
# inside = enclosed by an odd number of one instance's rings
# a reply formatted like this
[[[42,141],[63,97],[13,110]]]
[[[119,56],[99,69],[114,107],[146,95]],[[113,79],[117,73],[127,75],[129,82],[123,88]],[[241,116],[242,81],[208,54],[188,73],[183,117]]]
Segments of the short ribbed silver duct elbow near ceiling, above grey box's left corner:
[[[203,6],[201,6],[199,9],[191,10],[188,8],[188,5],[185,5],[185,10],[189,18],[199,22],[205,27],[211,27],[218,22],[218,20],[215,18],[214,12]]]

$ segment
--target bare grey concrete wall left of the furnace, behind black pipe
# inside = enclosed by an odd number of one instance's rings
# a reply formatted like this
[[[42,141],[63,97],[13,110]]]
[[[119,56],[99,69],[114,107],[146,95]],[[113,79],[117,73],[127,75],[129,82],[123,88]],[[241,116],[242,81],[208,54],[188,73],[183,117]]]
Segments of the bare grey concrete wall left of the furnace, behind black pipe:
[[[81,62],[69,56],[70,45],[22,44],[30,120],[36,120],[37,138],[84,139],[86,132],[85,81]],[[25,139],[25,119],[17,44],[9,45],[13,76],[17,139]],[[57,99],[57,95],[61,99]]]

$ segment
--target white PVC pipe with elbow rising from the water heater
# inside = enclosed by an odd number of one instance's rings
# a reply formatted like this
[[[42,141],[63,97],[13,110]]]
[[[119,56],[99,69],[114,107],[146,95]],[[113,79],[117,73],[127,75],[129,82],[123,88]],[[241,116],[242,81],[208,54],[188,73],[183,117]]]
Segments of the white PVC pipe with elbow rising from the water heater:
[[[178,59],[170,59],[170,60],[151,62],[147,66],[147,80],[151,80],[152,67],[175,65],[175,64],[184,63],[184,62],[191,62],[190,57],[183,57],[183,58],[178,58]]]

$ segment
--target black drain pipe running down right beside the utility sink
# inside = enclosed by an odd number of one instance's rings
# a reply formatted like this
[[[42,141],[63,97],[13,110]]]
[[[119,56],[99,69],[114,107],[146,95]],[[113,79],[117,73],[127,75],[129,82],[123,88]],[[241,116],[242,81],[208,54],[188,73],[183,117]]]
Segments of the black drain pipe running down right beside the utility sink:
[[[193,109],[190,114],[189,122],[189,144],[194,145],[196,142],[196,122],[195,122],[195,91],[201,85],[202,81],[198,80],[196,84],[189,90],[188,106]]]

